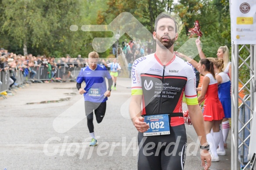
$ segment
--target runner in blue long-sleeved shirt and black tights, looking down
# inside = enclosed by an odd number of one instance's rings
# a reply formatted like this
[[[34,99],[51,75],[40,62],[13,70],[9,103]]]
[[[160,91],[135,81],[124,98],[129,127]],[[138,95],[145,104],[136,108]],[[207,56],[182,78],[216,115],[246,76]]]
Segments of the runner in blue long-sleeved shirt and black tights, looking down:
[[[94,135],[93,110],[97,123],[101,123],[106,112],[106,101],[111,94],[112,78],[105,66],[97,64],[99,54],[90,52],[88,55],[89,65],[83,67],[76,79],[76,87],[80,94],[84,96],[85,113],[87,116],[87,126],[92,140],[90,146],[97,145]],[[108,90],[105,78],[108,79]],[[81,88],[81,83],[85,81],[85,88]]]

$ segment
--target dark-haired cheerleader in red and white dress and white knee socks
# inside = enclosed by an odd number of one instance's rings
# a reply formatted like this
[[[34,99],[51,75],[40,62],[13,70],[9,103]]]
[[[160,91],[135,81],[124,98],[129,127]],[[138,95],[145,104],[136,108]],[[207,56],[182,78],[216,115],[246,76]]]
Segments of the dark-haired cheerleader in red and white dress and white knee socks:
[[[198,71],[204,75],[201,94],[198,103],[204,103],[203,117],[205,120],[206,138],[210,144],[212,162],[219,161],[216,146],[220,142],[220,123],[224,117],[223,107],[218,97],[218,84],[215,78],[213,62],[208,59],[201,59],[198,64]],[[211,129],[213,128],[213,135]]]

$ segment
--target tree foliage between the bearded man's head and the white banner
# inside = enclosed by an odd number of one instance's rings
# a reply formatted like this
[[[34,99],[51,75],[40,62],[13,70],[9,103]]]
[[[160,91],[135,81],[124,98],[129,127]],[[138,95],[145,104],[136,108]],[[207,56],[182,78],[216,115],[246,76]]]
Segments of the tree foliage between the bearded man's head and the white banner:
[[[219,2],[218,0],[180,0],[180,4],[175,5],[175,12],[180,15],[185,27],[179,36],[177,47],[188,39],[184,35],[187,35],[189,28],[193,28],[195,20],[198,20],[201,26],[203,36],[200,40],[206,57],[216,57],[219,46],[230,47],[229,7],[226,7],[227,4],[223,4],[223,1]],[[195,59],[200,60],[199,57]]]

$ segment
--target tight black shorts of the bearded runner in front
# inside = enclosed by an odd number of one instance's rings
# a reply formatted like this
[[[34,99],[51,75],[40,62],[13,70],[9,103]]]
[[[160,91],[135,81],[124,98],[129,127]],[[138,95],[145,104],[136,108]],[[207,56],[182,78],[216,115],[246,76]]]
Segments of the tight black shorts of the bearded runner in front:
[[[138,133],[138,170],[183,170],[187,135],[185,125],[170,127],[170,135]]]

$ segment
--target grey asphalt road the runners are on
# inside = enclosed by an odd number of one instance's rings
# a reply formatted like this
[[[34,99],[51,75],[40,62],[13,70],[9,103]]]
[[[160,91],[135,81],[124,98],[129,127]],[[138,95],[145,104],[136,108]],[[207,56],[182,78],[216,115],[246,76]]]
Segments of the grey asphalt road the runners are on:
[[[95,147],[88,145],[83,96],[76,83],[35,83],[0,99],[0,170],[136,170],[137,130],[128,113],[130,79],[118,78],[117,84],[101,124],[94,117]],[[190,147],[197,136],[193,126],[186,129]],[[187,150],[184,170],[202,169],[194,148]],[[230,146],[226,152],[211,170],[231,169]]]

